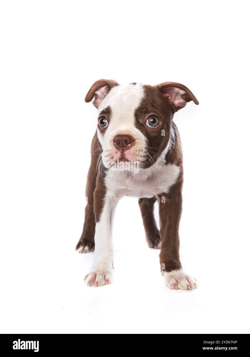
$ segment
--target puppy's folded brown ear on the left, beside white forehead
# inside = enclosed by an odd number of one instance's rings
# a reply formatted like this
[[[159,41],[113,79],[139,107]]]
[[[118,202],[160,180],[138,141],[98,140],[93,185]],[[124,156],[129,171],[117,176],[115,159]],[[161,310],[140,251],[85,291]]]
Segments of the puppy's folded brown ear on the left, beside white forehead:
[[[99,79],[94,84],[92,84],[90,90],[87,92],[85,102],[91,102],[91,100],[95,96],[93,105],[95,105],[96,108],[99,108],[101,102],[106,97],[111,88],[118,85],[119,84],[117,83],[117,81],[113,81],[112,79]]]

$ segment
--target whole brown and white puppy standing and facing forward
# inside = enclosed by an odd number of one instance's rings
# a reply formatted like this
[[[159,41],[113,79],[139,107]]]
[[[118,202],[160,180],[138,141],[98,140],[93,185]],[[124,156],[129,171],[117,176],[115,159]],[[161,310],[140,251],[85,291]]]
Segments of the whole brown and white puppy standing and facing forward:
[[[93,251],[94,262],[85,277],[88,286],[113,281],[112,221],[119,198],[139,197],[146,241],[160,248],[160,266],[170,289],[197,288],[182,270],[179,259],[179,222],[182,213],[183,160],[174,113],[187,102],[199,104],[184,85],[156,86],[98,80],[85,101],[98,109],[97,132],[92,140],[88,172],[85,223],[76,246]],[[160,231],[154,219],[159,202]]]

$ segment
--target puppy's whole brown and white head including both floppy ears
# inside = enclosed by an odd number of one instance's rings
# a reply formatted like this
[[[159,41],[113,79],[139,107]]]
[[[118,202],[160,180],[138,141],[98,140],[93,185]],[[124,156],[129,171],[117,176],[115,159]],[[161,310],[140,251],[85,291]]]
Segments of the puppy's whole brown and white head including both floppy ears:
[[[199,104],[187,87],[174,82],[118,85],[101,79],[92,85],[85,101],[94,96],[97,134],[107,168],[117,160],[138,162],[142,169],[152,166],[168,145],[174,112],[191,100]]]

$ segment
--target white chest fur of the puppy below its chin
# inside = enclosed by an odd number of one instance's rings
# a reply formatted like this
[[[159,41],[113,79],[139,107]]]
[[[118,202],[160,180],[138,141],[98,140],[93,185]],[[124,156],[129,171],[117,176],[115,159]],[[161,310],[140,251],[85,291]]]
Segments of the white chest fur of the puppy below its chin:
[[[160,165],[134,173],[132,171],[107,172],[105,183],[107,195],[121,197],[153,197],[162,192],[167,193],[180,174],[180,167],[175,165]]]

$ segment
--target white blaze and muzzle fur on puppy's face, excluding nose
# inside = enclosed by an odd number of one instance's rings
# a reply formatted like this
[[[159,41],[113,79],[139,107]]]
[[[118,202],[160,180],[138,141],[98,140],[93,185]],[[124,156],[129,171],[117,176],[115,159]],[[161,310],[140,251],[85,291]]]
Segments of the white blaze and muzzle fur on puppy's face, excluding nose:
[[[130,135],[134,140],[133,145],[124,152],[126,159],[143,162],[147,139],[135,127],[134,117],[134,112],[143,96],[142,84],[128,84],[113,87],[101,102],[99,112],[108,106],[112,112],[104,136],[97,130],[98,139],[103,148],[102,161],[105,167],[111,167],[112,162],[117,161],[121,156],[121,151],[114,146],[113,141],[117,135]]]

